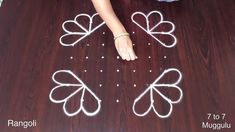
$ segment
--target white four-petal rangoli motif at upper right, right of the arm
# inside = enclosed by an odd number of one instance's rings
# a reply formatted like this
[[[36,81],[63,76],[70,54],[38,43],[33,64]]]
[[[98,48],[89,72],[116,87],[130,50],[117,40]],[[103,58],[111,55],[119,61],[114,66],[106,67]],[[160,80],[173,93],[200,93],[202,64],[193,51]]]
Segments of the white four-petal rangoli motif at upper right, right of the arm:
[[[135,16],[140,15],[143,16],[145,18],[145,22],[146,22],[146,27],[143,27],[140,23],[137,22],[137,20],[135,20]],[[157,21],[155,23],[155,25],[153,27],[150,27],[150,21],[149,21],[149,17],[152,15],[157,15],[160,17],[160,20]],[[153,37],[156,41],[158,41],[162,46],[166,47],[166,48],[172,48],[176,45],[177,43],[177,39],[176,37],[172,34],[175,31],[175,25],[170,22],[170,21],[164,21],[163,20],[163,16],[161,14],[161,12],[159,11],[151,11],[150,13],[148,13],[147,15],[145,15],[142,12],[135,12],[132,14],[131,16],[132,22],[135,23],[138,27],[140,27],[142,30],[144,30],[147,34],[149,34],[151,37]],[[169,31],[162,31],[162,32],[158,32],[158,31],[154,31],[156,30],[159,26],[161,26],[162,24],[168,24],[169,26],[171,26],[171,29]],[[173,42],[170,44],[166,44],[165,42],[161,41],[159,38],[157,38],[154,35],[166,35],[166,36],[170,36],[173,38]]]

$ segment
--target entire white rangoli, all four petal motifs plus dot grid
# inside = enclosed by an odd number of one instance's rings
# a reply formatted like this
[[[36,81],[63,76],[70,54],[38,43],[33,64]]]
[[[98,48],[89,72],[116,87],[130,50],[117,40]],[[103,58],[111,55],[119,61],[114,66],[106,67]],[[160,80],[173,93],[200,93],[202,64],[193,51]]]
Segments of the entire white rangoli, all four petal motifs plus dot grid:
[[[141,26],[136,20],[135,20],[135,16],[136,15],[141,15],[145,18],[146,20],[146,27],[144,26]],[[160,21],[158,21],[154,26],[150,27],[150,24],[149,24],[149,17],[151,15],[159,15],[160,16]],[[93,19],[94,17],[98,16],[98,13],[90,16],[88,14],[79,14],[77,15],[74,20],[67,20],[65,21],[63,24],[62,24],[62,28],[63,30],[65,31],[65,34],[62,35],[60,37],[60,44],[63,45],[63,46],[74,46],[76,45],[78,42],[80,42],[81,40],[83,40],[84,38],[86,38],[87,36],[89,36],[91,33],[95,32],[97,29],[99,29],[100,27],[102,27],[105,22],[101,22],[99,25],[97,26],[93,26]],[[81,25],[78,20],[80,17],[87,17],[89,18],[89,27],[88,29],[86,29],[83,25]],[[132,14],[131,16],[131,19],[132,19],[132,22],[135,23],[139,28],[141,28],[142,30],[144,30],[147,34],[149,34],[151,37],[153,37],[156,41],[158,41],[161,45],[163,45],[164,47],[166,48],[171,48],[171,47],[174,47],[177,43],[177,39],[176,37],[172,34],[175,30],[175,25],[170,22],[170,21],[164,21],[163,20],[163,16],[162,14],[159,12],[159,11],[151,11],[150,13],[148,13],[147,15],[145,15],[144,13],[142,12],[135,12]],[[66,28],[66,24],[74,24],[75,26],[79,27],[82,31],[69,31],[67,28]],[[171,29],[170,31],[161,31],[161,32],[158,32],[156,31],[156,29],[158,29],[158,27],[161,25],[161,24],[168,24],[171,26]],[[105,34],[105,32],[103,32],[103,34]],[[134,32],[133,32],[134,34]],[[66,43],[63,41],[63,39],[67,36],[73,36],[73,35],[77,35],[79,36],[80,38],[78,38],[76,41],[72,42],[72,43]],[[170,43],[170,44],[166,44],[164,43],[163,41],[161,41],[159,38],[156,37],[156,35],[168,35],[170,37],[173,38],[173,42]],[[148,45],[150,45],[150,43],[148,43]],[[102,44],[102,46],[104,46],[104,44]],[[104,58],[104,57],[101,57],[101,58]],[[151,58],[151,56],[149,57],[149,59]],[[165,58],[165,57],[164,57]],[[88,59],[88,56],[86,57],[86,59]],[[117,59],[119,59],[119,56],[117,56]],[[86,72],[87,70],[84,70],[84,72]],[[102,72],[103,70],[100,70],[100,72]],[[119,72],[119,69],[117,70],[117,72]],[[133,70],[133,72],[136,72],[136,70]],[[152,70],[149,70],[149,72],[152,72]],[[159,80],[161,80],[162,77],[164,77],[166,74],[170,73],[170,72],[176,72],[179,77],[178,77],[178,80],[175,82],[175,83],[171,83],[171,84],[163,84],[163,83],[159,83]],[[55,76],[58,75],[58,74],[68,74],[70,76],[72,76],[73,78],[75,78],[78,82],[77,83],[63,83],[63,82],[59,82],[55,79]],[[176,103],[179,103],[183,97],[183,92],[181,90],[180,87],[178,87],[177,85],[179,84],[179,82],[181,81],[182,79],[182,74],[181,72],[178,70],[178,69],[175,69],[175,68],[169,68],[167,70],[165,70],[143,93],[141,93],[135,100],[134,100],[134,103],[133,103],[133,106],[132,106],[132,110],[134,112],[135,115],[137,116],[145,116],[147,115],[151,110],[154,111],[154,113],[159,116],[160,118],[167,118],[171,115],[172,113],[172,110],[173,110],[173,104],[176,104]],[[57,84],[57,86],[55,86],[50,94],[49,94],[49,98],[50,100],[53,102],[53,103],[63,103],[63,110],[64,110],[64,113],[67,115],[67,116],[75,116],[77,114],[79,114],[81,111],[87,115],[87,116],[95,116],[101,109],[101,100],[92,92],[92,90],[90,88],[88,88],[84,83],[83,81],[78,78],[72,71],[70,70],[59,70],[59,71],[56,71],[53,76],[52,76],[52,80]],[[102,87],[102,84],[99,84],[100,87]],[[136,84],[133,85],[134,87],[136,87]],[[53,98],[53,93],[58,90],[58,89],[62,89],[62,88],[71,88],[71,87],[77,87],[77,89],[72,92],[69,96],[59,100],[59,99],[55,99]],[[117,87],[119,87],[119,84],[117,84]],[[179,97],[177,100],[172,100],[170,99],[169,97],[167,97],[166,95],[164,95],[163,93],[161,93],[160,90],[158,90],[158,88],[173,88],[173,89],[176,89],[178,90],[179,92]],[[74,97],[76,94],[78,93],[81,93],[81,98],[80,98],[80,107],[75,111],[75,112],[68,112],[67,108],[66,108],[66,105],[67,103],[70,101],[70,99],[72,97]],[[148,107],[147,111],[143,112],[143,113],[138,113],[136,112],[136,103],[138,103],[138,101],[140,101],[142,99],[143,96],[147,96],[148,92],[150,93],[149,96],[150,96],[150,106]],[[154,98],[153,98],[153,93],[156,92],[158,93],[169,105],[170,105],[170,109],[169,109],[169,112],[167,114],[159,114],[159,112],[156,110],[155,106],[154,106]],[[97,109],[92,111],[92,112],[89,112],[86,110],[86,108],[84,107],[84,96],[85,96],[85,93],[87,94],[90,94],[91,97],[93,97],[94,100],[96,100],[96,103],[97,103]],[[119,100],[117,101],[119,102]]]

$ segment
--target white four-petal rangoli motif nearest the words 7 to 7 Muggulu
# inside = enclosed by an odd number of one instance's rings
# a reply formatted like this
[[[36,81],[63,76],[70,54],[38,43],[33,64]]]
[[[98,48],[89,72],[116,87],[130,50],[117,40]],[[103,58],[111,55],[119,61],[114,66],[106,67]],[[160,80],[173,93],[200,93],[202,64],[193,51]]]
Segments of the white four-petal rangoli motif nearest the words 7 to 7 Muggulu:
[[[171,83],[171,84],[163,84],[163,83],[159,83],[159,80],[161,80],[166,74],[170,73],[170,72],[176,72],[178,74],[178,79],[174,82],[174,83]],[[167,70],[165,70],[143,93],[141,93],[134,101],[134,104],[132,106],[132,110],[133,112],[135,113],[135,115],[137,116],[145,116],[147,115],[150,110],[152,109],[154,111],[154,113],[159,116],[160,118],[167,118],[171,115],[172,113],[172,110],[173,110],[173,104],[176,104],[176,103],[179,103],[183,97],[183,92],[181,90],[181,88],[179,86],[177,86],[179,84],[179,82],[181,81],[182,79],[182,74],[181,72],[178,70],[178,69],[175,69],[175,68],[169,68]],[[176,90],[178,90],[178,92],[180,93],[179,94],[179,97],[178,99],[176,100],[172,100],[170,99],[169,97],[167,97],[166,95],[164,95],[158,88],[174,88]],[[140,101],[144,96],[147,96],[146,94],[147,93],[150,93],[150,105],[147,109],[147,111],[143,112],[143,113],[138,113],[136,112],[136,103],[138,101]],[[154,106],[154,99],[153,99],[153,92],[156,92],[158,93],[169,105],[170,105],[170,110],[167,114],[165,115],[161,115],[159,114],[159,112],[156,110],[155,106]]]

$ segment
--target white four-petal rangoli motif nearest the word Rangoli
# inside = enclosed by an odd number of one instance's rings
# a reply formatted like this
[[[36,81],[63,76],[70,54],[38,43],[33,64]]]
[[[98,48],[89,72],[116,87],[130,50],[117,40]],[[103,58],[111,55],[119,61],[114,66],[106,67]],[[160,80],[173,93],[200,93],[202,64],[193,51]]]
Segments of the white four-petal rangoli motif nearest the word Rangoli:
[[[68,74],[70,76],[72,76],[75,80],[78,81],[78,83],[63,83],[63,82],[60,82],[60,81],[57,81],[55,79],[55,77],[58,75],[58,74]],[[72,71],[70,70],[59,70],[59,71],[56,71],[53,76],[52,76],[52,80],[57,84],[56,87],[54,87],[50,94],[49,94],[49,98],[50,100],[53,102],[53,103],[64,103],[63,104],[63,110],[64,110],[64,113],[67,115],[67,116],[75,116],[77,115],[78,113],[80,113],[81,111],[83,113],[85,113],[87,116],[94,116],[96,115],[99,111],[100,111],[100,108],[101,108],[101,100],[82,82],[81,79],[79,79]],[[63,88],[71,88],[71,87],[77,87],[77,90],[75,90],[74,92],[72,92],[71,94],[69,94],[67,97],[63,98],[63,99],[54,99],[53,98],[53,93],[56,92],[56,90],[59,90],[59,89],[63,89]],[[66,108],[66,105],[67,103],[69,102],[69,100],[76,94],[78,94],[79,92],[82,92],[81,94],[81,98],[80,98],[80,108],[77,109],[77,111],[75,112],[68,112],[67,108]],[[87,92],[88,94],[90,94],[90,96],[96,100],[97,102],[97,109],[94,110],[93,112],[89,112],[85,109],[84,107],[84,96],[85,96],[85,92]]]

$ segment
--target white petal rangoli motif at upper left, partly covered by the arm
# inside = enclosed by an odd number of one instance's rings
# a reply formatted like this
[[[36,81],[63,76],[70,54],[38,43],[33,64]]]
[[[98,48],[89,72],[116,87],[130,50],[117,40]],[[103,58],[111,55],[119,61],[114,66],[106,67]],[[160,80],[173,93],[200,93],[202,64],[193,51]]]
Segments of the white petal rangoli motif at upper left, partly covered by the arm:
[[[93,25],[93,19],[94,17],[99,16],[98,13],[95,13],[94,15],[90,16],[88,14],[79,14],[77,15],[74,20],[67,20],[62,24],[62,28],[65,31],[65,34],[62,35],[60,37],[60,44],[63,46],[74,46],[76,45],[78,42],[80,42],[81,40],[83,40],[84,38],[86,38],[87,36],[89,36],[91,33],[93,33],[94,31],[96,31],[97,29],[99,29],[101,26],[103,26],[105,24],[105,22],[103,21],[102,23],[98,24],[97,26]],[[78,22],[78,19],[81,17],[87,17],[89,19],[89,27],[88,29],[86,29],[82,24],[80,24]],[[78,28],[80,28],[82,31],[70,31],[66,28],[66,24],[74,24],[75,26],[77,26]],[[64,38],[68,37],[68,36],[81,36],[79,39],[77,39],[75,42],[72,43],[66,43],[64,42]]]

